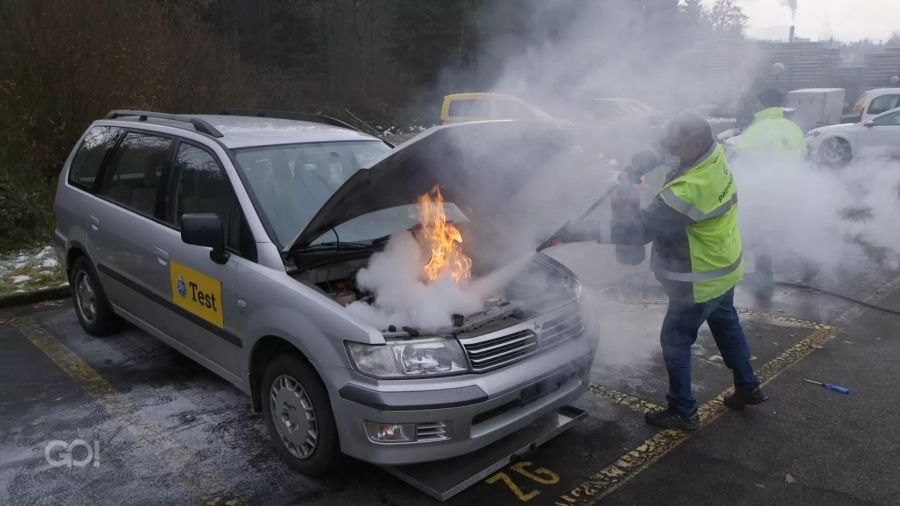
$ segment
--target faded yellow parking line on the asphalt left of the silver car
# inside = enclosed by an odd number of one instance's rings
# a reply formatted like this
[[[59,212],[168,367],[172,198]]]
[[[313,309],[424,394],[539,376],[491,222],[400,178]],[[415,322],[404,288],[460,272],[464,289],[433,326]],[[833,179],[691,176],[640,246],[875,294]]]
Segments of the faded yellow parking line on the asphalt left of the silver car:
[[[19,333],[50,358],[60,369],[90,395],[103,411],[120,426],[127,428],[168,469],[178,469],[179,480],[204,504],[237,505],[240,498],[230,492],[217,479],[192,466],[194,452],[165,434],[159,428],[143,420],[138,407],[117,392],[113,386],[90,365],[61,343],[50,332],[31,318],[17,317],[9,322]]]

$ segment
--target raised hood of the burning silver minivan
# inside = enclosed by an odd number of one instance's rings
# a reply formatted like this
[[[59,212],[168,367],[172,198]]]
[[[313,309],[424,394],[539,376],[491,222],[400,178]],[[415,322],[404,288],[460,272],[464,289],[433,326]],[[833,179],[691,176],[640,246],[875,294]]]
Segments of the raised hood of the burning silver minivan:
[[[480,121],[432,128],[351,176],[288,251],[304,248],[358,216],[414,204],[436,184],[447,202],[469,216],[488,220],[508,213],[504,196],[548,169],[548,162],[571,147],[573,133],[571,126],[546,121]]]

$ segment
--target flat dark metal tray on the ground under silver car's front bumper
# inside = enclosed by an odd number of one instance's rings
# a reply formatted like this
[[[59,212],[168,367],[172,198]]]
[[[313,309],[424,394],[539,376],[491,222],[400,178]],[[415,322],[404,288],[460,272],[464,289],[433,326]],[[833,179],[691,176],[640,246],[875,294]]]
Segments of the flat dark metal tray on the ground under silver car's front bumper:
[[[476,452],[435,462],[381,468],[431,497],[446,501],[562,434],[583,416],[584,411],[563,406],[555,413]]]

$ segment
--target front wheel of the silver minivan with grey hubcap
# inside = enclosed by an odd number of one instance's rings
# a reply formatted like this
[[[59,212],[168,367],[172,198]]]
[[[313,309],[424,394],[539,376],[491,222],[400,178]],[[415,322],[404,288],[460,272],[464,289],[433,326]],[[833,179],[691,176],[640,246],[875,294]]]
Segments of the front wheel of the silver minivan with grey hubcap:
[[[313,368],[297,355],[279,355],[266,367],[260,388],[278,455],[307,476],[333,471],[343,456],[328,392]]]

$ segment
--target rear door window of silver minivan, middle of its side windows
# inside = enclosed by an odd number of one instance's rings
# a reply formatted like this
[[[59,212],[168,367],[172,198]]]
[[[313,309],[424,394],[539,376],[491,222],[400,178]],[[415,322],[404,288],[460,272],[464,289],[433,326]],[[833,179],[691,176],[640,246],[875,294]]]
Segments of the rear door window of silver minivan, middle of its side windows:
[[[125,134],[103,175],[100,194],[147,216],[156,215],[156,195],[172,141],[137,132]]]

